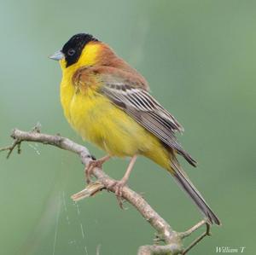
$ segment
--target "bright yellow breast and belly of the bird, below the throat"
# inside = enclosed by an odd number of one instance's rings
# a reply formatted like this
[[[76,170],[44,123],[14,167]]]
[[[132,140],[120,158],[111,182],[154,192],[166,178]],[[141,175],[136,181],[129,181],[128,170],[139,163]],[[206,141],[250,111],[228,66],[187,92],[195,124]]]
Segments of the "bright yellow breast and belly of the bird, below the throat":
[[[105,96],[88,89],[75,93],[61,85],[61,104],[65,116],[84,140],[118,157],[143,154],[169,168],[169,153],[160,140],[145,130]]]

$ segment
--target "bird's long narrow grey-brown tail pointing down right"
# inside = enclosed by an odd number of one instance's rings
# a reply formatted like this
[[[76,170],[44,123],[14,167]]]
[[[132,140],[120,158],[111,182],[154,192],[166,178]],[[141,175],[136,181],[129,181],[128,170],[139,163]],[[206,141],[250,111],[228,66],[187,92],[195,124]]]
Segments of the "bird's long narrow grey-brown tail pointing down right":
[[[173,161],[176,161],[175,159]],[[178,164],[178,162],[172,161],[172,176],[176,180],[176,182],[179,184],[183,190],[189,194],[189,197],[195,202],[195,205],[198,206],[200,211],[207,217],[209,220],[209,223],[216,223],[217,225],[220,225],[220,221],[218,217],[212,212],[212,209],[210,206],[207,205],[207,202],[203,199],[200,192],[195,188],[193,183],[189,180],[189,177],[186,175],[186,173],[183,171],[181,166]]]

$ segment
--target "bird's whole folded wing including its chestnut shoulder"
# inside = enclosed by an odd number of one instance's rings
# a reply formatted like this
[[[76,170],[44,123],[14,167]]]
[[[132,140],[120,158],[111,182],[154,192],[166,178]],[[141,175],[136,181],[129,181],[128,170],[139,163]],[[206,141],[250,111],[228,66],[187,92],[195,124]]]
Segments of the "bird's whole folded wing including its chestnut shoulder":
[[[102,95],[195,166],[195,160],[183,150],[174,134],[175,131],[182,132],[183,126],[149,95],[143,78],[115,67],[90,67],[80,72],[77,83],[85,82],[91,76],[96,77],[97,90]]]

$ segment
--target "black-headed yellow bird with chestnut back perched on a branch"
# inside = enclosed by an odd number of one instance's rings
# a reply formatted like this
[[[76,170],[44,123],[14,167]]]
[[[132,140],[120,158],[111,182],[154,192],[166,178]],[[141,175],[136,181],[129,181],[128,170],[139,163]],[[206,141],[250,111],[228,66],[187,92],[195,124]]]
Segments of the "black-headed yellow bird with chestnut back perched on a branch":
[[[142,74],[90,33],[73,35],[49,58],[61,66],[61,105],[68,123],[107,153],[90,160],[87,183],[94,167],[112,157],[130,158],[124,177],[112,185],[121,196],[137,156],[144,156],[171,173],[208,223],[220,225],[178,162],[179,154],[196,166],[177,142],[176,133],[182,133],[183,126],[151,96]]]

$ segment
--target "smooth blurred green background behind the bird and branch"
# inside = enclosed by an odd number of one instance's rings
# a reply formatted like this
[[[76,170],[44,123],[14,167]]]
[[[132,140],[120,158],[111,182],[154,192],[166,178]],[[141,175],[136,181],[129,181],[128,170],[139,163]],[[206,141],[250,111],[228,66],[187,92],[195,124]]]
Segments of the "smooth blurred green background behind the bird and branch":
[[[148,79],[152,93],[185,127],[183,147],[199,161],[183,166],[222,220],[189,254],[216,246],[246,246],[255,232],[255,1],[1,1],[0,147],[11,130],[30,130],[82,142],[63,117],[61,70],[48,55],[74,33],[109,43]],[[103,153],[86,143],[90,152]],[[84,188],[75,155],[22,144],[9,160],[0,154],[1,254],[136,254],[154,229],[131,206],[121,211],[107,192],[74,204]],[[104,170],[115,178],[127,160]],[[201,219],[172,177],[139,159],[130,186],[183,231]],[[191,240],[187,240],[186,244]]]

